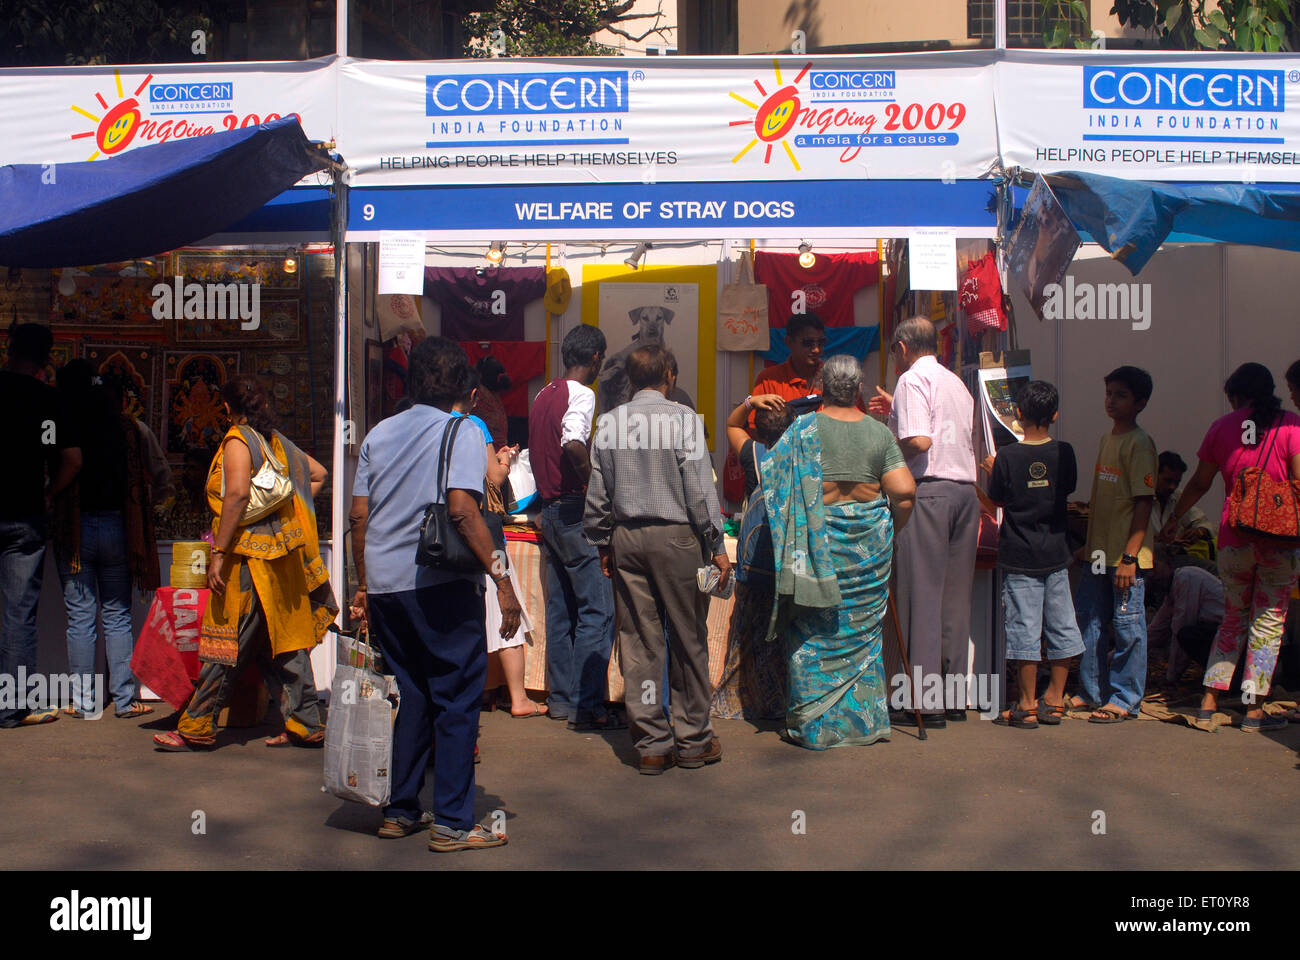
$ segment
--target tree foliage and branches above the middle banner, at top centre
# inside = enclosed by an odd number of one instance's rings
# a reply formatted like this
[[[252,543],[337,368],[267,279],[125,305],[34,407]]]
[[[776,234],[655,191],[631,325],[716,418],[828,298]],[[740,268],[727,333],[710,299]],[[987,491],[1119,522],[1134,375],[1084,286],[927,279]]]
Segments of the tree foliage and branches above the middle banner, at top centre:
[[[500,0],[462,21],[468,57],[569,57],[618,53],[592,38],[610,30],[632,42],[663,35],[663,13],[632,13],[633,0]]]

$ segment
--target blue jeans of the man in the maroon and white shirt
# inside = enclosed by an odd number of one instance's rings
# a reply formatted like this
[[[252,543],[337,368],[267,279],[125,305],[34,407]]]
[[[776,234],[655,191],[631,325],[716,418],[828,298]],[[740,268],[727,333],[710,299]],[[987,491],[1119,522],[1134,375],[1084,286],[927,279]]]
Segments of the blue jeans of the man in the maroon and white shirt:
[[[614,587],[582,536],[582,497],[542,507],[546,552],[546,700],[552,717],[589,721],[607,699]]]

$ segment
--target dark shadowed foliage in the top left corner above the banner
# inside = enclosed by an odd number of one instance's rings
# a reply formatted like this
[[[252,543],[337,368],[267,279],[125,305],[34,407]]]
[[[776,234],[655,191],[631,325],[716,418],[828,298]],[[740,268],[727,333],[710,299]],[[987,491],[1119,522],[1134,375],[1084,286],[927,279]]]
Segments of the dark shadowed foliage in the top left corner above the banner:
[[[0,65],[190,61],[195,30],[212,33],[209,4],[0,0]]]

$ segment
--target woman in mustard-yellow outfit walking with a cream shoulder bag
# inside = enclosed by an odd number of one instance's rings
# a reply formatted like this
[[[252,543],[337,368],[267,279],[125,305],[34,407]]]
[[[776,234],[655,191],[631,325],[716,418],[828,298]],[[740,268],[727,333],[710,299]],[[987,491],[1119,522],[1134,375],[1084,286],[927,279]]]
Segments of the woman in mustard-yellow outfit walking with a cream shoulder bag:
[[[199,640],[203,670],[177,730],[156,735],[153,743],[176,752],[214,745],[217,714],[239,674],[255,663],[281,687],[286,734],[266,745],[318,745],[325,727],[309,654],[338,614],[312,505],[325,468],[276,429],[270,401],[255,377],[234,377],[221,388],[221,399],[230,429],[207,484],[214,545]],[[268,449],[287,464],[292,494],[273,513],[244,524],[252,477]]]

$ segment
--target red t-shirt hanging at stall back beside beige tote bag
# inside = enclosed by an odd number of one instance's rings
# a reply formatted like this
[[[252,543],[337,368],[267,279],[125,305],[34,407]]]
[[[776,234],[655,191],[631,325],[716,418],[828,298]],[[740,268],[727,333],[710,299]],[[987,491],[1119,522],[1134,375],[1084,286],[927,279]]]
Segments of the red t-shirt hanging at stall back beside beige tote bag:
[[[818,254],[815,263],[800,267],[797,254],[754,254],[754,278],[767,286],[767,323],[784,329],[790,319],[793,294],[802,290],[805,311],[816,313],[827,327],[853,327],[853,294],[880,278],[876,251]]]

